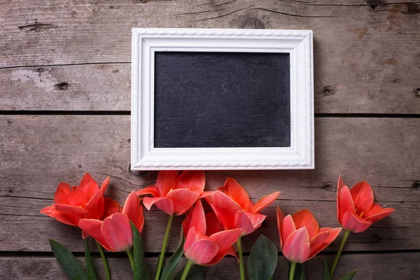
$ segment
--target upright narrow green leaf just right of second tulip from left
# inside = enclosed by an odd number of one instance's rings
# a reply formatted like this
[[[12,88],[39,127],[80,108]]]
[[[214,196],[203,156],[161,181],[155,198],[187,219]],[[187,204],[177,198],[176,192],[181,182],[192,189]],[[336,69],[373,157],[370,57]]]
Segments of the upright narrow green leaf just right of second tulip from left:
[[[144,243],[139,230],[130,221],[133,232],[134,280],[148,280],[146,262],[144,260]]]

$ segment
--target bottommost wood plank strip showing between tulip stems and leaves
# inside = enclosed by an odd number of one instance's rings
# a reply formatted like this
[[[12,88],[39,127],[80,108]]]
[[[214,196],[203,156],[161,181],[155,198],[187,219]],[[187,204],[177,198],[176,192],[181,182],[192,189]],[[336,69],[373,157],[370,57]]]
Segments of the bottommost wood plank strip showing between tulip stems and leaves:
[[[327,256],[328,262],[332,262],[333,256]],[[354,279],[416,279],[420,276],[418,265],[412,265],[414,260],[419,260],[420,253],[381,253],[381,254],[351,254],[342,255],[341,262],[336,270],[336,275],[344,275],[358,269]],[[78,258],[83,263],[83,258]],[[247,258],[245,258],[247,260]],[[108,258],[113,279],[131,279],[132,272],[127,258]],[[94,258],[99,274],[104,277],[104,269],[99,258]],[[148,271],[155,271],[156,258],[146,258]],[[181,260],[178,272],[183,269],[185,260]],[[398,269],[389,269],[398,264]],[[323,279],[323,257],[316,256],[307,262],[307,279]],[[280,257],[273,279],[287,279],[288,262]],[[225,258],[218,265],[204,267],[206,279],[239,279],[239,269],[234,258]],[[50,257],[1,257],[1,279],[66,279],[55,258]]]

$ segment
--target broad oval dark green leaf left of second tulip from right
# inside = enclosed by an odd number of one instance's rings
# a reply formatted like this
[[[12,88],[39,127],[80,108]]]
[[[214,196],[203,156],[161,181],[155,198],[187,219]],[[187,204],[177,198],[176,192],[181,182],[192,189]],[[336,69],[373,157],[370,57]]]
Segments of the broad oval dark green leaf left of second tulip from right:
[[[248,275],[251,280],[272,278],[279,258],[276,245],[264,235],[260,235],[248,258]]]

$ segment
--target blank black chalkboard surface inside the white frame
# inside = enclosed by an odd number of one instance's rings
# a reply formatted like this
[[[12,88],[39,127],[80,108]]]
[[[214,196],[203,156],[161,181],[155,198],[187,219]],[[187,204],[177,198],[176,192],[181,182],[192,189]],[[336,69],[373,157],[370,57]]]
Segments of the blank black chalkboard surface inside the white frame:
[[[290,55],[155,52],[155,148],[289,147]]]

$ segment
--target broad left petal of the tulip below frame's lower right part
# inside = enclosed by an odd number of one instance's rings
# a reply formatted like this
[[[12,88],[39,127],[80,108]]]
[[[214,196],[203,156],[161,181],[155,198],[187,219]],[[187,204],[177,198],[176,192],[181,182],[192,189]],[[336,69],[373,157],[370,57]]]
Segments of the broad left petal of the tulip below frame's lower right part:
[[[211,197],[211,206],[214,208],[219,221],[221,221],[226,230],[236,228],[235,215],[237,211],[242,210],[237,202],[228,197],[228,195],[216,191],[213,197]]]

